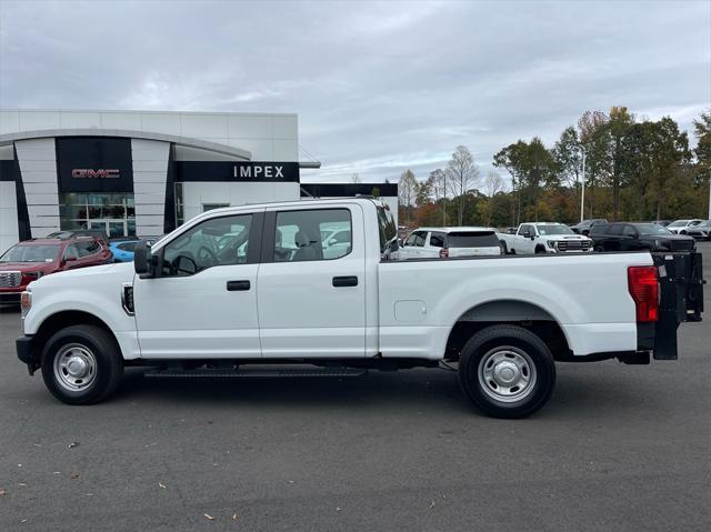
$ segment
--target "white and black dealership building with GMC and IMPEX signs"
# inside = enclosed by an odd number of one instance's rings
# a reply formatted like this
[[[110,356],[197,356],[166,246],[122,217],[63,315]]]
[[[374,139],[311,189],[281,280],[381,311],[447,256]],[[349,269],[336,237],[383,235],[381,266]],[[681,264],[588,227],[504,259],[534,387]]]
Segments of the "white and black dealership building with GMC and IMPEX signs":
[[[209,209],[380,195],[397,184],[303,183],[289,113],[0,110],[0,253],[64,229],[160,235]],[[318,172],[314,174],[318,177]]]

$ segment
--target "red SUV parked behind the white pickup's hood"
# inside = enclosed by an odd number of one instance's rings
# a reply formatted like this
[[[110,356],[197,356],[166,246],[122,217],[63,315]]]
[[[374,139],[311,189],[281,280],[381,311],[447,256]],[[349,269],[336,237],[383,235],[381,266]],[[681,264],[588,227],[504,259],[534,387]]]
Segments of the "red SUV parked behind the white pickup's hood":
[[[111,262],[107,244],[97,237],[31,239],[0,257],[0,303],[19,303],[29,283],[42,275]]]

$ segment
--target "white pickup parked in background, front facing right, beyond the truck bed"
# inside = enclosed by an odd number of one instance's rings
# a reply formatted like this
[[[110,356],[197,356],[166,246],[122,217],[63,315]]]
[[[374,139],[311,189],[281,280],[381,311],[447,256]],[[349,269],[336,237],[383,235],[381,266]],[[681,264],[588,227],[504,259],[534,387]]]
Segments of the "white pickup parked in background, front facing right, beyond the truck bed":
[[[563,223],[521,223],[515,234],[500,233],[504,252],[511,254],[580,253],[592,251],[592,240],[575,234]]]

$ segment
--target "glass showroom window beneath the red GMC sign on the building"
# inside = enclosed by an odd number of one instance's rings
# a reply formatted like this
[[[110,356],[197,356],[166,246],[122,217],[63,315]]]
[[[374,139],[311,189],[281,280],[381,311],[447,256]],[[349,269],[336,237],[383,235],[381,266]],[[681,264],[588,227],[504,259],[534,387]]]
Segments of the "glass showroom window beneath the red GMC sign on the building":
[[[59,217],[62,230],[101,229],[109,237],[136,234],[133,194],[60,194]]]

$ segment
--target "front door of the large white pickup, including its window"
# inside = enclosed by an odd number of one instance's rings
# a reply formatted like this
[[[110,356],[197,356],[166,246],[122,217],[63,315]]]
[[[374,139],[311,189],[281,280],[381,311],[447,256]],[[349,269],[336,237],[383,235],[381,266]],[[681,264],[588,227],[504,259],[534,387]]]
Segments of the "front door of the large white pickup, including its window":
[[[262,220],[262,212],[210,218],[156,250],[157,277],[133,282],[142,358],[261,357]]]

